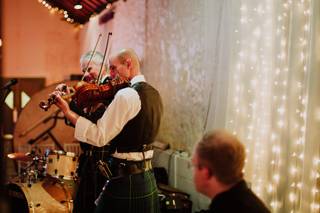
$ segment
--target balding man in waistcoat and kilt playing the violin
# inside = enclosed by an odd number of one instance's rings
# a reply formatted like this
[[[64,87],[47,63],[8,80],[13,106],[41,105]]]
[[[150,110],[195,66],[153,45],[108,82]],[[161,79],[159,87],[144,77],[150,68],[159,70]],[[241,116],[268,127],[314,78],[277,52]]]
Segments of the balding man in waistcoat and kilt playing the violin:
[[[117,91],[96,123],[72,111],[59,94],[56,105],[75,125],[76,139],[97,147],[110,146],[112,177],[97,199],[96,212],[160,212],[150,144],[160,126],[161,97],[145,82],[132,49],[112,56],[109,70],[131,86]]]

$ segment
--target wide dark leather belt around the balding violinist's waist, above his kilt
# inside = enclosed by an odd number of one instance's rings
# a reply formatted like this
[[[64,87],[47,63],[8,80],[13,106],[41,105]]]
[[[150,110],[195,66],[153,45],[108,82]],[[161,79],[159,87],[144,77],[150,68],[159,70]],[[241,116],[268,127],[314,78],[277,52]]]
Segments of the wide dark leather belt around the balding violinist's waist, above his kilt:
[[[114,177],[139,174],[152,169],[152,164],[150,159],[147,159],[144,161],[125,161],[125,160],[118,160],[116,158],[113,158],[113,159],[114,159],[114,162],[112,164],[115,165],[113,167]]]

